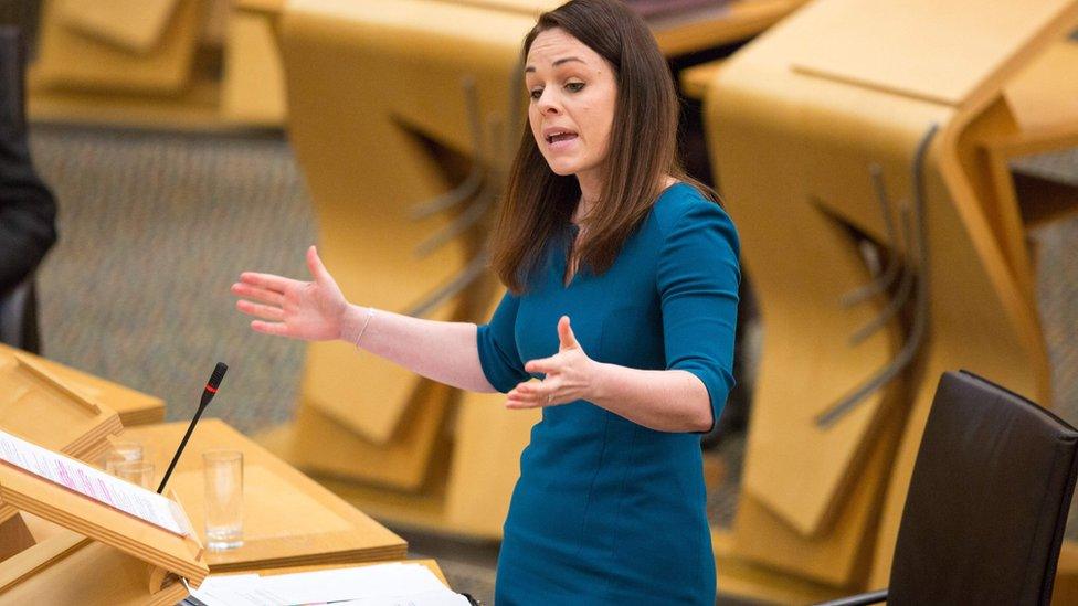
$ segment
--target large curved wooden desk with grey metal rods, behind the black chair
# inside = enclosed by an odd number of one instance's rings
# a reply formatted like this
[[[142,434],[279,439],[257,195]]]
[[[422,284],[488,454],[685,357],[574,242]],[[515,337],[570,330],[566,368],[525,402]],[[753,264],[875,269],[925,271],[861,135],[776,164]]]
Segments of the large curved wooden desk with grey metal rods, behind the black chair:
[[[1076,23],[1074,0],[817,0],[712,73],[711,160],[767,327],[723,556],[884,586],[936,378],[1050,402],[1025,226],[1078,195],[1007,160],[1078,140],[1072,99],[1036,93],[1075,73]]]

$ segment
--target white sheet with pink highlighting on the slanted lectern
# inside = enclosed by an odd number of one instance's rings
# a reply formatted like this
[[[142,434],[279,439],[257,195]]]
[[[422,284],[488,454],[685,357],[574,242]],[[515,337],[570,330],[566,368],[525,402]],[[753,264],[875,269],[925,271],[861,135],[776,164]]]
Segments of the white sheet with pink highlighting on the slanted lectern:
[[[0,460],[169,532],[187,534],[169,499],[7,432],[0,432]]]

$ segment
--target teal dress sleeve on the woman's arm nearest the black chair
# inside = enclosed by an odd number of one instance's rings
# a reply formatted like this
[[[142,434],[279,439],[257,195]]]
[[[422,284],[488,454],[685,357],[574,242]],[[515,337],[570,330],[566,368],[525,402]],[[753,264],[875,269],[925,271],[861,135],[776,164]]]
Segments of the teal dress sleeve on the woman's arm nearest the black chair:
[[[739,252],[726,211],[711,202],[694,203],[674,223],[658,261],[666,368],[704,382],[712,428],[734,384]]]

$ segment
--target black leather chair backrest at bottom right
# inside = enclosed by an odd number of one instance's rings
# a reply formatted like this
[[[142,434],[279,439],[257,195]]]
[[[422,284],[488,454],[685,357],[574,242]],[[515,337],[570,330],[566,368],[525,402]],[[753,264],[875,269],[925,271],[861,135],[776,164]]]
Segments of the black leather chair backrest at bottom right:
[[[1078,432],[972,373],[940,380],[918,450],[888,604],[1048,604]]]

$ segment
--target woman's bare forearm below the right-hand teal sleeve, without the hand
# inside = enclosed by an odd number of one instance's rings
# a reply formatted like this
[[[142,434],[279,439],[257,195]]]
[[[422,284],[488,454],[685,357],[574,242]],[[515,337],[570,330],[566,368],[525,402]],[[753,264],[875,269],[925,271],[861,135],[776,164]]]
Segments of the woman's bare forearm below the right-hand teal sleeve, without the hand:
[[[711,427],[707,387],[683,370],[637,370],[595,362],[596,406],[659,432],[706,432]]]

